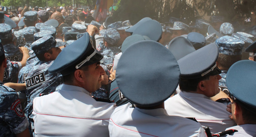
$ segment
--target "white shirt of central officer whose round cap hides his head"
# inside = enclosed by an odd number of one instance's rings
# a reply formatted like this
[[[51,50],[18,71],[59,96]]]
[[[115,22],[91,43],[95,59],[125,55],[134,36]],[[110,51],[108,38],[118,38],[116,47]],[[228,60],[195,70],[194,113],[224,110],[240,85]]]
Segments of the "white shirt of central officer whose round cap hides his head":
[[[200,123],[168,116],[165,109],[133,108],[131,103],[118,106],[110,118],[110,136],[206,136]]]

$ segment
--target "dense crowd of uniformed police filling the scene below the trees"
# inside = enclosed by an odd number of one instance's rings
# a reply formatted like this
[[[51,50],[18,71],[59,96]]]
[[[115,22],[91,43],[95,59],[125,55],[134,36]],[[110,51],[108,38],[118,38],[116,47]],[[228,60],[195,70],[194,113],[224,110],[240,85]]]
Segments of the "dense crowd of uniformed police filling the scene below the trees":
[[[256,42],[224,17],[0,12],[0,136],[256,136]]]

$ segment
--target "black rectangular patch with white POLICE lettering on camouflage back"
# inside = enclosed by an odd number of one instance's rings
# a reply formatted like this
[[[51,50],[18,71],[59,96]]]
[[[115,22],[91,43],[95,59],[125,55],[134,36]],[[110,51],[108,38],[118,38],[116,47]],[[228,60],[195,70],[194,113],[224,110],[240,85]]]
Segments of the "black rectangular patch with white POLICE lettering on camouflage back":
[[[41,85],[42,83],[45,83],[45,82],[46,82],[45,74],[39,73],[37,75],[34,75],[26,79],[26,88],[30,89],[37,85]]]

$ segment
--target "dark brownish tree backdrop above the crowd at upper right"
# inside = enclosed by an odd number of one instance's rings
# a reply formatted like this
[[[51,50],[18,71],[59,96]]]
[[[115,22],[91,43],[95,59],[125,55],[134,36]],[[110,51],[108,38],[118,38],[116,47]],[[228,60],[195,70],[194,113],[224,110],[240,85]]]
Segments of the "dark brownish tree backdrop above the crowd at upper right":
[[[255,5],[255,0],[119,0],[113,18],[129,19],[132,24],[143,17],[160,22],[176,17],[190,22],[205,15],[221,15],[234,20],[249,17],[251,12],[256,11]]]

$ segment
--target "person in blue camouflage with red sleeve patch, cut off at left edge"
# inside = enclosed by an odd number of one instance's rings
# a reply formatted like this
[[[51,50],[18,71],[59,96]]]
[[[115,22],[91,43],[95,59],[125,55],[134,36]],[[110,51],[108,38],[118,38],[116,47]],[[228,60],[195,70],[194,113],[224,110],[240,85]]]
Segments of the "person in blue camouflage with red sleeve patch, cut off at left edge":
[[[4,47],[0,40],[0,136],[30,136],[29,122],[24,116],[22,105],[15,91],[3,85],[4,71],[7,67]]]

